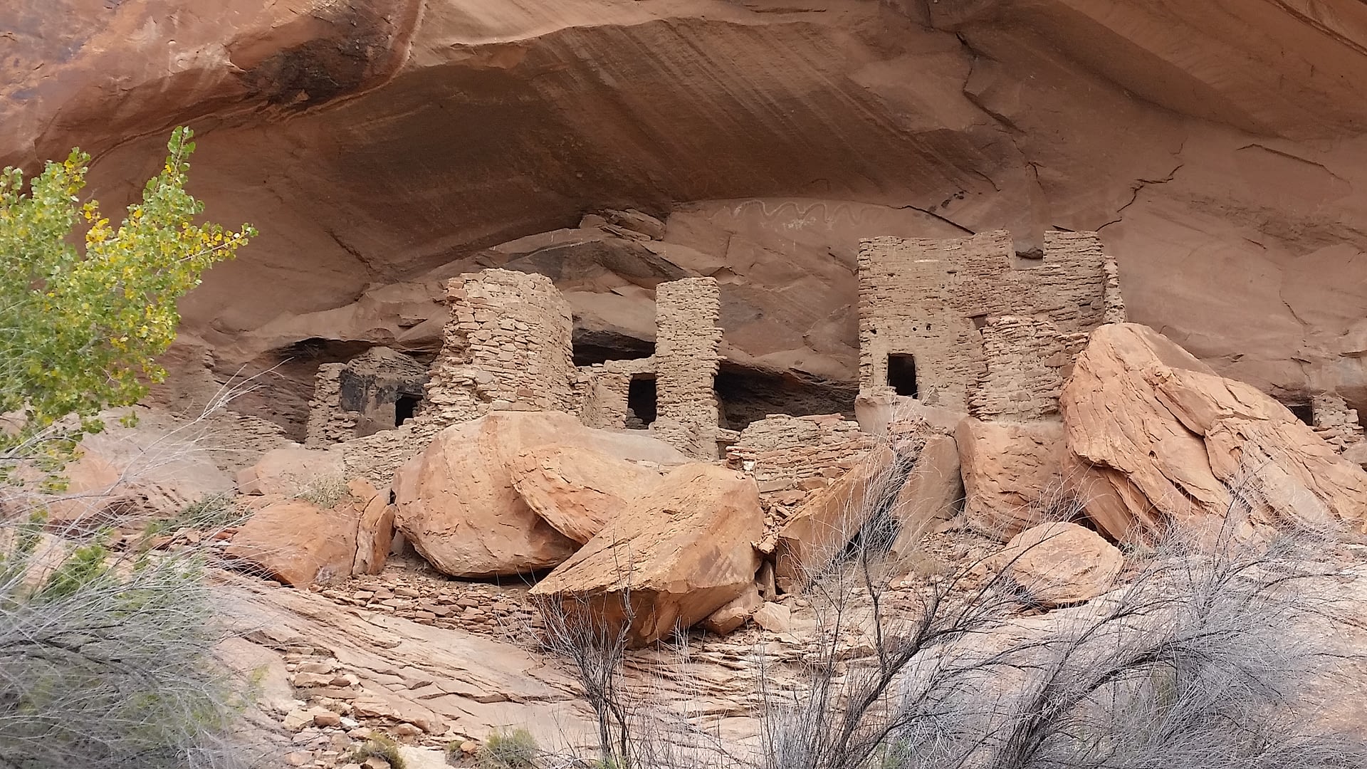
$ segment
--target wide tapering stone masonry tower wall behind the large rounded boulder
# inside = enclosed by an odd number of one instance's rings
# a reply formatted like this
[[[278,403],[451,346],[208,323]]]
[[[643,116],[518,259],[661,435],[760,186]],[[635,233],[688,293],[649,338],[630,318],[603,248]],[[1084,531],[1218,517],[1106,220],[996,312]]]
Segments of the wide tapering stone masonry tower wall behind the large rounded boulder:
[[[421,421],[495,409],[578,410],[570,305],[544,275],[484,270],[447,285],[451,319]]]

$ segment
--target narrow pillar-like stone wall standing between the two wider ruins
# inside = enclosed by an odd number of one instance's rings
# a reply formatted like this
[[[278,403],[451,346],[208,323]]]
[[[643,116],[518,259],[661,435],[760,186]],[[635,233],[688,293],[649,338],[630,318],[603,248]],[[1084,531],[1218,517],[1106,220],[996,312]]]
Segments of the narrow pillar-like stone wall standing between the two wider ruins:
[[[655,287],[655,435],[685,454],[716,458],[716,369],[722,300],[714,278]]]

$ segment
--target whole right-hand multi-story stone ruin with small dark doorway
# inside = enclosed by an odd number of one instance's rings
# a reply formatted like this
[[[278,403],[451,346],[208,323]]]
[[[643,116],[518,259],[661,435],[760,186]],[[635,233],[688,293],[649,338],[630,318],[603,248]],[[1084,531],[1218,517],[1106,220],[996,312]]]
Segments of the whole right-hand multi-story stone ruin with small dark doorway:
[[[1079,339],[1124,320],[1095,233],[1044,234],[1040,259],[1006,231],[874,238],[858,256],[860,390],[983,417],[1057,413]]]

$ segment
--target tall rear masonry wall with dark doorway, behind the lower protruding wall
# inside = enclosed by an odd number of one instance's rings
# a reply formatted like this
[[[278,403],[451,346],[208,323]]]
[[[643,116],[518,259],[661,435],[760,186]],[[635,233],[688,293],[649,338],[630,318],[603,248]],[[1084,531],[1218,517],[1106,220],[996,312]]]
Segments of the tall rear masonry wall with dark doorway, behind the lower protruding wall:
[[[864,241],[861,391],[889,391],[889,354],[910,354],[920,401],[968,410],[972,390],[988,375],[982,330],[994,317],[1036,317],[1062,338],[1124,316],[1118,274],[1107,264],[1095,233],[1048,231],[1038,260],[1017,257],[1006,231]],[[1003,360],[1001,350],[992,354]]]

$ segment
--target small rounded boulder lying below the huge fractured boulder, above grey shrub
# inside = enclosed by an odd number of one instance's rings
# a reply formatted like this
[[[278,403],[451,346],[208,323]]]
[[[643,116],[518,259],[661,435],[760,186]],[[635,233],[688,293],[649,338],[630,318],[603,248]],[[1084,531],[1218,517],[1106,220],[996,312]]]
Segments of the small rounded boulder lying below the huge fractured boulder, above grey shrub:
[[[1017,534],[983,562],[990,573],[1003,573],[1044,606],[1096,598],[1117,586],[1124,565],[1120,549],[1099,534],[1061,521]]]

